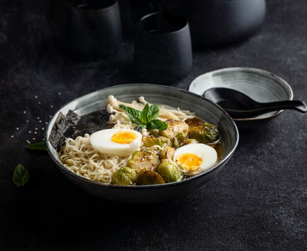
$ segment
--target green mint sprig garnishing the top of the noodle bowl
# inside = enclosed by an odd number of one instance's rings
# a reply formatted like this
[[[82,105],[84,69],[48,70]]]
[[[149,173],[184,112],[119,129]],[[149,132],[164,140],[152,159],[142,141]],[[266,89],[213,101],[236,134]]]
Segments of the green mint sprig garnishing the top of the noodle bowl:
[[[132,123],[137,125],[134,128],[136,131],[141,131],[143,128],[158,130],[167,129],[167,124],[157,119],[159,115],[159,107],[157,104],[146,104],[142,112],[123,104],[120,104],[119,108],[127,113]]]

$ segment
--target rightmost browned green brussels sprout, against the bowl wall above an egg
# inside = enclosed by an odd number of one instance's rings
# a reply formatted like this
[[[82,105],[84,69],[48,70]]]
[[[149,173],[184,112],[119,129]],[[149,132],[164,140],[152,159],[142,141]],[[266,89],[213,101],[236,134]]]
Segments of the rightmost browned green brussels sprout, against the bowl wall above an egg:
[[[220,138],[217,126],[204,123],[202,126],[195,126],[189,129],[189,137],[198,140],[200,143],[209,144]]]

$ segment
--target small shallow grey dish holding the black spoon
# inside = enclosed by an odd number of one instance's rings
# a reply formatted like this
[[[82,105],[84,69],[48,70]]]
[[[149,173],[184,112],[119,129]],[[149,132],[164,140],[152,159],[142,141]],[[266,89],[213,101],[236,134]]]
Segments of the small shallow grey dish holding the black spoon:
[[[195,78],[188,87],[190,92],[203,95],[208,89],[215,87],[230,88],[244,93],[258,102],[293,100],[290,85],[281,77],[270,72],[250,68],[233,67],[205,73]],[[233,119],[240,126],[243,123],[264,121],[279,115],[274,111],[261,116],[244,119]]]

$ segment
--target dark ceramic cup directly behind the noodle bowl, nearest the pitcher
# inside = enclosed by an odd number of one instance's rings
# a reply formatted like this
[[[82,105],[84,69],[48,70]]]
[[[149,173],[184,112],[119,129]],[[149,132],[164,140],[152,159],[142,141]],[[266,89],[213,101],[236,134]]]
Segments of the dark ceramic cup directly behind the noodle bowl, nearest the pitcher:
[[[141,19],[134,47],[139,80],[170,83],[192,67],[188,22],[180,15],[155,12]]]

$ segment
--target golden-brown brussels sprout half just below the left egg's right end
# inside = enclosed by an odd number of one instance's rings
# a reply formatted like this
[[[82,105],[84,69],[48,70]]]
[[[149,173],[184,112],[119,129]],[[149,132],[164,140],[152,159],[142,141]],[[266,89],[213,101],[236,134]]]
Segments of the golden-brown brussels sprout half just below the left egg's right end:
[[[136,173],[141,170],[154,171],[160,160],[156,154],[150,151],[136,151],[128,161],[128,167]]]

